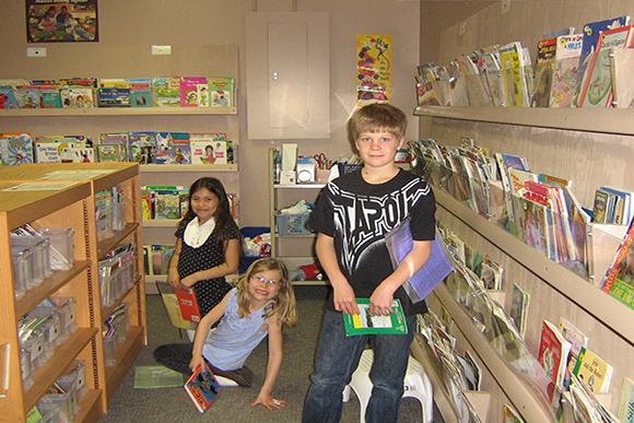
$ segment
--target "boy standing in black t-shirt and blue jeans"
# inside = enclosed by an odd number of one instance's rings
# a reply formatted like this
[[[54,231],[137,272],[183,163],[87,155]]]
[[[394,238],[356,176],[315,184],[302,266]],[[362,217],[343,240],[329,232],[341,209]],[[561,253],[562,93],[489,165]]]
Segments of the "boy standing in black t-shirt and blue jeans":
[[[329,183],[312,214],[310,226],[318,232],[317,257],[332,292],[304,404],[304,423],[339,422],[343,388],[368,341],[374,350],[369,373],[374,388],[365,420],[397,421],[415,315],[426,312],[424,302],[412,304],[401,285],[430,258],[436,210],[427,183],[395,165],[406,129],[404,113],[389,104],[356,110],[348,130],[364,166]],[[408,219],[414,245],[392,271],[385,235]],[[384,316],[394,313],[392,298],[399,298],[408,334],[348,337],[341,314],[359,314],[357,297],[369,298],[369,312]]]

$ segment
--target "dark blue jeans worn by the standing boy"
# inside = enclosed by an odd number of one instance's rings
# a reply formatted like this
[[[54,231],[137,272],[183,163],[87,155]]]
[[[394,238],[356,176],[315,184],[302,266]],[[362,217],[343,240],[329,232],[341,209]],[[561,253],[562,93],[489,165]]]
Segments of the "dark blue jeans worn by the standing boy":
[[[365,421],[396,423],[415,322],[415,316],[407,317],[407,334],[348,337],[341,313],[326,310],[315,372],[310,375],[312,385],[304,403],[303,423],[340,421],[343,388],[350,383],[368,341],[374,350],[374,363],[369,371],[374,387],[365,410]]]

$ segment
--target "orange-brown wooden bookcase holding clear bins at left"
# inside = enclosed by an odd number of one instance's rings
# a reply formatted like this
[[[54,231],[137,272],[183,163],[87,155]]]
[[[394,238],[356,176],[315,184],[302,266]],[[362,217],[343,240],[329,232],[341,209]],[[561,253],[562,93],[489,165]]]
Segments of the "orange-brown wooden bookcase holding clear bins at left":
[[[11,187],[23,187],[24,189]],[[126,224],[109,237],[97,236],[95,195],[118,187],[122,192],[120,210]],[[107,411],[141,349],[148,343],[143,260],[140,249],[132,254],[133,277],[129,287],[107,306],[103,305],[99,260],[120,244],[141,245],[139,165],[25,164],[0,169],[0,372],[2,396],[0,412],[10,422],[25,422],[27,413],[42,400],[50,386],[75,360],[85,363],[87,390],[79,400],[75,422],[97,421]],[[68,270],[56,270],[35,287],[15,297],[16,279],[11,258],[11,231],[23,225],[39,228],[72,228],[74,262]],[[99,239],[99,240],[97,240]],[[78,329],[52,350],[51,356],[23,381],[24,357],[17,339],[17,320],[51,297],[74,298]],[[117,307],[127,308],[125,340],[118,343],[106,363],[103,321]],[[22,362],[21,362],[22,359]],[[108,364],[108,365],[106,365]]]

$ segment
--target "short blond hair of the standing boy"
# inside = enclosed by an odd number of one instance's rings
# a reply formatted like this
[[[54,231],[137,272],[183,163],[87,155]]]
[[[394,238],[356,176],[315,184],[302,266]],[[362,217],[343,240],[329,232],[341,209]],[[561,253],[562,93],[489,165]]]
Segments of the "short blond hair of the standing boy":
[[[354,144],[363,132],[386,131],[397,139],[406,136],[408,117],[398,107],[387,103],[373,103],[364,106],[348,120],[348,136]]]

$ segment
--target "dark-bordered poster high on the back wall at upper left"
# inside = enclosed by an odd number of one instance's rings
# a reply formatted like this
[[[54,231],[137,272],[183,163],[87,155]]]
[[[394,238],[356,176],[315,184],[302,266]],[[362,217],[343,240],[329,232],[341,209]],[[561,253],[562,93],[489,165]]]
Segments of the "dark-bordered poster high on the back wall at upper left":
[[[97,0],[26,0],[26,40],[98,42]]]

